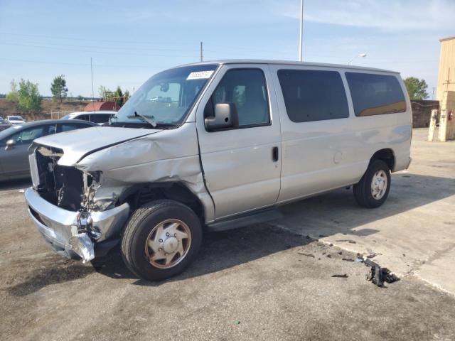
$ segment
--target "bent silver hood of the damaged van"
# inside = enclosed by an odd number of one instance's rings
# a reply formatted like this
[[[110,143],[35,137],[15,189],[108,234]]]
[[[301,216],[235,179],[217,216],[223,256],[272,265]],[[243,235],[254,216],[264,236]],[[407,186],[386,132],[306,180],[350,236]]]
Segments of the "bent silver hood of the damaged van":
[[[161,130],[94,126],[41,137],[34,142],[43,146],[63,149],[63,156],[58,164],[74,166],[81,158],[90,155],[90,153],[141,136],[156,134],[159,131]]]

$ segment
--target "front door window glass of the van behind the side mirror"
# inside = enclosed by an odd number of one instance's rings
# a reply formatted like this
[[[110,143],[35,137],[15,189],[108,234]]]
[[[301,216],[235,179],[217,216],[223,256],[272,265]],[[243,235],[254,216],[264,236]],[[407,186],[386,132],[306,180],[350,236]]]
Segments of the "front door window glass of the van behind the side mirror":
[[[213,105],[234,103],[240,126],[268,124],[270,120],[266,89],[262,70],[229,70],[212,96]]]

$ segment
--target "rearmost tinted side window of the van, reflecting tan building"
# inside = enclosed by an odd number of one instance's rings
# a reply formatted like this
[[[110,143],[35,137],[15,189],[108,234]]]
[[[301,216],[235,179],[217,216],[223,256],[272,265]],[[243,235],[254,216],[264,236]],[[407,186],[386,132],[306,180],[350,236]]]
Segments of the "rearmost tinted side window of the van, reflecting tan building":
[[[355,116],[406,112],[405,94],[397,77],[346,72]]]

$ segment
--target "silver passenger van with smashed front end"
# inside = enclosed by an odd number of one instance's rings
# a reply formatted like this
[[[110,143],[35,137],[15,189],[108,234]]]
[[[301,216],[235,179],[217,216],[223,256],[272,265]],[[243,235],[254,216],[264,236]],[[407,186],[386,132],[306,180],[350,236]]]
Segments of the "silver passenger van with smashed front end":
[[[181,273],[205,230],[270,220],[277,207],[353,185],[382,205],[410,164],[412,114],[397,72],[220,60],[160,72],[110,120],[37,139],[31,219],[60,253],[121,244],[141,278]]]

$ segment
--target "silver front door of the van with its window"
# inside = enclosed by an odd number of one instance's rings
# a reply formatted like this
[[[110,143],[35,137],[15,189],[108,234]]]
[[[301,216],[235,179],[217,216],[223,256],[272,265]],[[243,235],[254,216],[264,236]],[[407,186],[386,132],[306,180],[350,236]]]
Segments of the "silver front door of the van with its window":
[[[223,65],[196,114],[200,157],[215,219],[274,205],[280,189],[281,133],[268,65]],[[205,117],[232,103],[238,126],[208,131]]]

